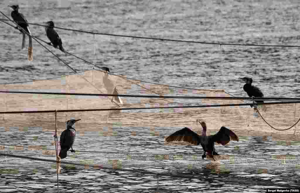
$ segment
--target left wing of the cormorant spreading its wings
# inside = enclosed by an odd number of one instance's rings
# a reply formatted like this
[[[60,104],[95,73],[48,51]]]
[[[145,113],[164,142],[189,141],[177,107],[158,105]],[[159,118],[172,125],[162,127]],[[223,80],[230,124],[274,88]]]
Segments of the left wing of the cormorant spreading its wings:
[[[171,134],[169,137],[166,138],[166,141],[167,142],[185,141],[193,145],[199,145],[201,141],[201,136],[196,134],[194,131],[190,130],[189,128],[185,127]]]

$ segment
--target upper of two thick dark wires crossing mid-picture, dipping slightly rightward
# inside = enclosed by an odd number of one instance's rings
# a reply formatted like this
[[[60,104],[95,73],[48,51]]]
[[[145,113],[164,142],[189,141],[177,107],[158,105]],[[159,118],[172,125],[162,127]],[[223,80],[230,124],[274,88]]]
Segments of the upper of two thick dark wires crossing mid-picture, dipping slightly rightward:
[[[5,91],[0,93],[20,93],[20,94],[44,94],[44,95],[79,95],[79,96],[113,96],[113,97],[136,97],[136,98],[184,98],[184,99],[217,99],[217,100],[253,100],[250,97],[203,97],[203,96],[162,96],[162,95],[116,95],[116,94],[91,94],[91,93],[70,93],[70,92],[30,92],[30,91]],[[255,101],[300,101],[300,98],[283,97],[255,97]]]

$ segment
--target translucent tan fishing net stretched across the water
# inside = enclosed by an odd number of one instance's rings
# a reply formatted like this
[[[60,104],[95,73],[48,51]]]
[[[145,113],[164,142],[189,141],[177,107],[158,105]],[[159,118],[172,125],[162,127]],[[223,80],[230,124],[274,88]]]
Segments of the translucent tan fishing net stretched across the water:
[[[89,70],[48,80],[1,84],[1,90],[27,92],[70,92],[91,94],[127,94],[156,96],[217,96],[230,97],[224,90],[187,89],[154,84],[140,80]],[[226,172],[231,165],[292,165],[299,167],[300,155],[289,155],[284,150],[268,149],[269,145],[292,148],[299,140],[300,130],[286,131],[270,128],[249,106],[185,108],[192,105],[240,104],[239,100],[180,99],[180,98],[125,98],[104,96],[74,96],[52,94],[0,93],[0,111],[88,110],[144,107],[176,107],[167,109],[107,110],[57,113],[58,139],[71,118],[81,119],[74,126],[75,153],[68,152],[61,164],[93,170],[113,169],[120,172],[159,173],[160,175],[194,175],[201,168]],[[287,128],[300,117],[297,104],[259,106],[261,115],[277,128]],[[1,114],[0,152],[7,154],[1,161],[23,165],[55,164],[55,114],[53,112]],[[208,134],[221,126],[230,128],[240,141],[218,146],[222,155],[202,160],[202,149],[187,143],[166,143],[164,138],[189,127],[201,134],[196,119],[206,122]],[[265,144],[269,151],[257,152],[256,144]],[[250,149],[245,154],[242,149]],[[291,149],[290,148],[290,149]],[[58,151],[60,147],[58,146]],[[293,152],[291,153],[293,154]],[[8,155],[28,156],[33,159],[10,158]],[[226,168],[224,168],[224,165]],[[52,167],[52,169],[54,169]]]

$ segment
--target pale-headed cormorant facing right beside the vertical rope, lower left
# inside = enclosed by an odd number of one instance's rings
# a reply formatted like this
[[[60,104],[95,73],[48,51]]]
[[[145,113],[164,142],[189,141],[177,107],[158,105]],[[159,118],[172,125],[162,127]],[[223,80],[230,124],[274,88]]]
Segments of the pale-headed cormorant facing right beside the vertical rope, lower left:
[[[71,148],[71,152],[75,152],[73,150],[73,143],[75,141],[76,137],[76,130],[72,127],[75,122],[79,121],[81,119],[70,119],[67,121],[67,129],[64,130],[60,135],[60,152],[59,157],[61,159],[67,157],[67,151]]]

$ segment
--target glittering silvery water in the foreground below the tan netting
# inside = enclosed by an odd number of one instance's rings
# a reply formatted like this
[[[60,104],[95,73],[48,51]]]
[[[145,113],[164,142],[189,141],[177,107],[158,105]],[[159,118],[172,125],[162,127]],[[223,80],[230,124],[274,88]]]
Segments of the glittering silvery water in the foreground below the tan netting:
[[[1,153],[55,161],[52,132],[40,128],[22,132],[2,129]],[[170,133],[170,128],[155,130],[160,135],[155,135],[151,128],[120,126],[112,128],[116,135],[88,131],[77,135],[73,146],[76,152],[68,152],[68,157],[62,160],[66,163],[61,163],[59,190],[261,192],[267,187],[289,188],[300,184],[299,141],[286,143],[269,136],[240,136],[239,142],[217,145],[220,156],[216,156],[216,162],[211,162],[201,158],[201,147],[165,145],[164,136]],[[132,135],[132,131],[139,132]],[[56,164],[53,162],[1,156],[0,163],[0,191],[57,191]],[[97,164],[117,170],[72,163]]]

